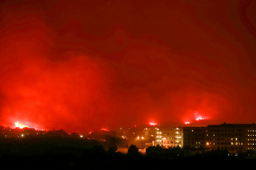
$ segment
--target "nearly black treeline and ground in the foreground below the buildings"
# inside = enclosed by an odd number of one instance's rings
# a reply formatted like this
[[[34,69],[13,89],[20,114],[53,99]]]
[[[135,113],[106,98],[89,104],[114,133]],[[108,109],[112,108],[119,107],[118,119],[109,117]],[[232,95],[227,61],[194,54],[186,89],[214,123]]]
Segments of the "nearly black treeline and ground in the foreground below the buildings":
[[[119,139],[109,136],[108,141],[81,139],[76,136],[26,136],[22,139],[0,141],[2,168],[112,168],[159,169],[171,168],[237,168],[250,167],[255,156],[228,156],[226,151],[184,150],[180,147],[163,149],[148,147],[146,154],[139,153],[135,145],[128,153],[117,151]]]

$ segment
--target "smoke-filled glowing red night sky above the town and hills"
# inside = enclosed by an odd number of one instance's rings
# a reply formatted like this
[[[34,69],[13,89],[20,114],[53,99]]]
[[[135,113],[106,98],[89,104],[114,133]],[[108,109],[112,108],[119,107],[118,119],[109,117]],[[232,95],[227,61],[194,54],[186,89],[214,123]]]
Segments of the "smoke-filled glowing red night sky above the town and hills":
[[[255,0],[0,3],[2,126],[81,131],[255,115]]]

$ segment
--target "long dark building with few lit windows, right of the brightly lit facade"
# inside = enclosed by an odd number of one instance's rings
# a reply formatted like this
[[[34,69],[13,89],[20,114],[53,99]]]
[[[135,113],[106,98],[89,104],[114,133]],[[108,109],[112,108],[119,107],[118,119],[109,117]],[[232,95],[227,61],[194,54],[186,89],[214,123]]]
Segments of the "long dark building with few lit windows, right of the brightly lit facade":
[[[255,124],[220,124],[207,127],[183,127],[184,146],[207,147],[238,153],[256,151]]]

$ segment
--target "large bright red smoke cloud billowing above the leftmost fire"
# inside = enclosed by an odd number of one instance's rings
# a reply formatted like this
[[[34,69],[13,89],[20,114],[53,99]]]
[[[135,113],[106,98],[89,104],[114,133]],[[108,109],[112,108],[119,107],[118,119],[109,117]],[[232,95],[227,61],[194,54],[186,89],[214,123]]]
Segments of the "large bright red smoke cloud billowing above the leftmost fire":
[[[108,96],[111,77],[102,59],[77,51],[51,51],[54,33],[33,15],[6,19],[4,31],[3,125],[13,127],[19,121],[37,128],[83,130],[108,123],[113,111]]]

